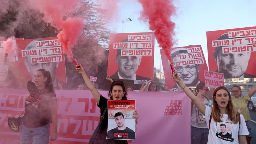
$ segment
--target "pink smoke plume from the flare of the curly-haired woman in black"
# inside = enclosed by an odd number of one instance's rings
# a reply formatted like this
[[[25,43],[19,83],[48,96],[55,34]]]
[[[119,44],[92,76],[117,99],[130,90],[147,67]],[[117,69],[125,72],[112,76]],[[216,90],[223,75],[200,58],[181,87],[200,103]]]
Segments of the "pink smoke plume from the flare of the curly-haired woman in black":
[[[72,48],[77,44],[84,28],[81,18],[68,18],[69,14],[76,10],[78,2],[78,0],[30,0],[30,3],[44,14],[43,20],[60,31],[57,37],[63,53],[69,60],[73,58]]]

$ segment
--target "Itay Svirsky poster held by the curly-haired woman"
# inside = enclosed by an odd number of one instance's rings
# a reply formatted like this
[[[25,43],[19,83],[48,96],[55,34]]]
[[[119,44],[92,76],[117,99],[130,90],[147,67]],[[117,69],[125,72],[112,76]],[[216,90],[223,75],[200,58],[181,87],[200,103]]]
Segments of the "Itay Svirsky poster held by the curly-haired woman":
[[[107,102],[107,139],[135,140],[135,100],[111,100]]]

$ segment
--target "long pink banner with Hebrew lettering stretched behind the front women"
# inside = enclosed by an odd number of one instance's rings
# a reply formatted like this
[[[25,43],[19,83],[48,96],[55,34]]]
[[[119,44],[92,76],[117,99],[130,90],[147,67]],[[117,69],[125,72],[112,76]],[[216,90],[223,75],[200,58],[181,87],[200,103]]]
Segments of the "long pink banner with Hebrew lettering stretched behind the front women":
[[[0,143],[17,143],[20,132],[12,132],[7,119],[22,113],[28,91],[0,91]],[[58,100],[58,139],[49,142],[88,143],[100,120],[100,109],[91,91],[55,92]],[[100,91],[104,96],[107,92]],[[129,143],[190,143],[190,99],[184,92],[129,91],[128,99],[136,100],[139,114],[136,140],[129,140]]]

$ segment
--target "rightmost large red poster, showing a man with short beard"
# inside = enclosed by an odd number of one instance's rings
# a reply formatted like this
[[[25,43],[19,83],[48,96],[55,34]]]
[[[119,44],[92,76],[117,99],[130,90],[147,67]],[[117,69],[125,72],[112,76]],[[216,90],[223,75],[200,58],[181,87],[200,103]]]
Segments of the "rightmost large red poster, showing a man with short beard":
[[[209,69],[224,78],[256,77],[256,27],[207,31]]]

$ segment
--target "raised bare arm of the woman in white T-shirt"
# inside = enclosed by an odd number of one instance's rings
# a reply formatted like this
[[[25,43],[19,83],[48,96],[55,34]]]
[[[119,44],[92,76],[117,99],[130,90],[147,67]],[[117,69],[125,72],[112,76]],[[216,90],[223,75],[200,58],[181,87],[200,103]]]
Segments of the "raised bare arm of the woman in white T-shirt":
[[[183,91],[187,94],[187,96],[193,101],[193,103],[196,105],[196,107],[198,108],[198,110],[205,115],[205,105],[203,104],[203,101],[201,101],[197,96],[195,96],[193,94],[192,91],[190,91],[189,88],[187,88],[187,86],[182,82],[180,76],[175,73],[171,74],[172,78],[174,79],[175,82],[177,82],[181,88],[183,89]]]

